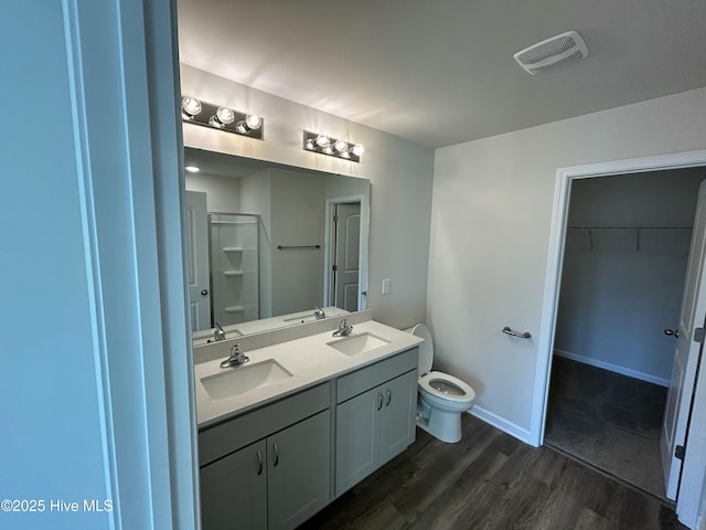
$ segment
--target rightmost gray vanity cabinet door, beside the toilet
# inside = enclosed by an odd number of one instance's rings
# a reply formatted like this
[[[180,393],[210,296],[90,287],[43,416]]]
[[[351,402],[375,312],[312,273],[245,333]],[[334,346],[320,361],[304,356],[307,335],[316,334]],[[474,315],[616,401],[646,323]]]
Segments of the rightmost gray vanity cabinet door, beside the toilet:
[[[411,445],[416,436],[417,371],[405,373],[383,384],[382,466]]]

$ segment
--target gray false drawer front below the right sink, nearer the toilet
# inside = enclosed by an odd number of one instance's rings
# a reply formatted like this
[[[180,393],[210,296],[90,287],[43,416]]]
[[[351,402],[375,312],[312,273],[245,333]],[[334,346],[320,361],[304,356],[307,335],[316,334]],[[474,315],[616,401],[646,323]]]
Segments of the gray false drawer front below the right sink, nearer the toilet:
[[[342,403],[373,386],[383,384],[397,375],[416,370],[419,364],[419,348],[415,347],[393,358],[376,362],[336,381],[336,403]]]

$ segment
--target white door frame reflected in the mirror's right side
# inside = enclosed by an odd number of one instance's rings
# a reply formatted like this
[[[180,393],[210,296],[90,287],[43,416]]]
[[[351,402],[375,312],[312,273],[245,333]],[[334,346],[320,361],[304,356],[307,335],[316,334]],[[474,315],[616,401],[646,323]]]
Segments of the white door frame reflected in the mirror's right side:
[[[370,237],[371,206],[368,198],[365,194],[330,197],[327,198],[325,204],[325,223],[323,234],[323,300],[322,306],[327,306],[331,300],[331,253],[333,239],[333,212],[336,204],[361,204],[361,241],[359,252],[359,289],[357,289],[357,310],[362,311],[367,308],[367,242]]]

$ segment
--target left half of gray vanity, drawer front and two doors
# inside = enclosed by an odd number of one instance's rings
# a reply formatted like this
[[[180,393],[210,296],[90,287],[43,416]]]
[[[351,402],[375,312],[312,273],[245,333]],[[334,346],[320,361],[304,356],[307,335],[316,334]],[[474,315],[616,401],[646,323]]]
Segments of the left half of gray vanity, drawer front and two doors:
[[[329,389],[303,391],[200,433],[204,530],[293,529],[330,502]]]

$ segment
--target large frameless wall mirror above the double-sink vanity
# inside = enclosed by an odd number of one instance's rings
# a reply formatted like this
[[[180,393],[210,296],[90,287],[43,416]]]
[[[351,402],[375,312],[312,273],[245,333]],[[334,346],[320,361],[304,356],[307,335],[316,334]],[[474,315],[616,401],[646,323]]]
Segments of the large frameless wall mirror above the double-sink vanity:
[[[370,182],[185,148],[194,343],[365,309]],[[221,335],[222,337],[222,335]]]

